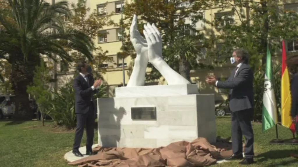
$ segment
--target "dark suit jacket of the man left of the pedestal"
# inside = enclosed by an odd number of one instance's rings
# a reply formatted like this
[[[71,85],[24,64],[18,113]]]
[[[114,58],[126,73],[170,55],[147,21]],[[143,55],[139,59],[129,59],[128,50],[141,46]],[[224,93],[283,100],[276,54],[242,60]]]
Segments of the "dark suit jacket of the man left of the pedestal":
[[[97,92],[96,89],[92,90],[91,86],[94,84],[94,78],[91,75],[87,75],[89,85],[82,75],[78,75],[74,79],[75,89],[75,113],[86,114],[89,111],[90,105],[94,103],[93,94]],[[91,102],[91,99],[93,102]]]

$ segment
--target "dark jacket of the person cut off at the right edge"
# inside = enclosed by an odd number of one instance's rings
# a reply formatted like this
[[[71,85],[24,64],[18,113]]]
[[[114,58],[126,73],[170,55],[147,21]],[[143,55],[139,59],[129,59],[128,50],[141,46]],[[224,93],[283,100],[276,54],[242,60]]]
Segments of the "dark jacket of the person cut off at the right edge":
[[[295,73],[291,80],[291,96],[292,96],[292,106],[291,106],[291,117],[295,118],[298,114],[298,73]]]

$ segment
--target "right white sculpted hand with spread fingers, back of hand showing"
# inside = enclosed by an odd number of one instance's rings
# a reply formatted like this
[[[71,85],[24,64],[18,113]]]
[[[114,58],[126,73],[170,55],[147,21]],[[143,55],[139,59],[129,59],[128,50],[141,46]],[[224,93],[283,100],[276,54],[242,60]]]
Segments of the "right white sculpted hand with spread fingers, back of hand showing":
[[[162,59],[162,36],[154,24],[144,25],[144,35],[148,43],[149,62]]]

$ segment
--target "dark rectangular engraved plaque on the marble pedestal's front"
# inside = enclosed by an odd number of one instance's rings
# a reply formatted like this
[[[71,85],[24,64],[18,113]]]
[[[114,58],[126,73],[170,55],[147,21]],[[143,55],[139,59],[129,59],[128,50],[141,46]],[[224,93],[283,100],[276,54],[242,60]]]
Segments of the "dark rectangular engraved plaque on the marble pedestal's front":
[[[156,120],[156,107],[132,107],[131,119],[143,121]]]

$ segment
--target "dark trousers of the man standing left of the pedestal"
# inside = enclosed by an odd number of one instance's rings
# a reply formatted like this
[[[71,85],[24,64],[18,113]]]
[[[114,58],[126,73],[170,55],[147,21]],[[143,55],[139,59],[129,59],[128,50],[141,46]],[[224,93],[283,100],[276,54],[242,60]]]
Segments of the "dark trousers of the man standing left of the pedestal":
[[[84,126],[86,125],[87,141],[86,149],[87,151],[92,151],[93,138],[94,138],[94,106],[93,103],[89,106],[89,111],[86,114],[78,114],[77,116],[77,129],[75,131],[75,142],[73,145],[73,150],[79,150],[80,144],[83,138]]]

